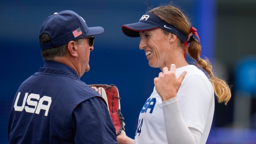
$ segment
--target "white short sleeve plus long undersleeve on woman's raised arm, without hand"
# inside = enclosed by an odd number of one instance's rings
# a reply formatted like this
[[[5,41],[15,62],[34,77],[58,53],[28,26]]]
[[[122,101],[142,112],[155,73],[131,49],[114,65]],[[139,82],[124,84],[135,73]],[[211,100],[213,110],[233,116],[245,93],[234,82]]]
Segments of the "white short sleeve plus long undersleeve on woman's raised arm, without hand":
[[[162,102],[168,143],[200,142],[212,97],[211,85],[201,76],[183,80],[177,97]]]

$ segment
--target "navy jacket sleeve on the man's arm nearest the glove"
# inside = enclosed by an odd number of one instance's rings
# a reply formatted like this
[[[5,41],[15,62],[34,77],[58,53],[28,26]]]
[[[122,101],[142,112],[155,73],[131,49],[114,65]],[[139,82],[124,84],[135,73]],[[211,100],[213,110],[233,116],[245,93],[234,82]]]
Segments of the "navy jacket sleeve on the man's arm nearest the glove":
[[[93,97],[79,104],[72,120],[76,144],[117,144],[109,111],[100,98]]]

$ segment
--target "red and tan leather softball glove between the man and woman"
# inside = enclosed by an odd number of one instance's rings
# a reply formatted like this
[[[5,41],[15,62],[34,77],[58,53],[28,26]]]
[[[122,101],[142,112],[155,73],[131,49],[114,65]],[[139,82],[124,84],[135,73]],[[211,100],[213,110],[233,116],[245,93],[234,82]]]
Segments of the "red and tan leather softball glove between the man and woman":
[[[113,124],[116,129],[116,135],[119,135],[121,130],[125,130],[123,123],[123,115],[121,114],[121,106],[120,106],[120,97],[118,89],[115,85],[102,85],[95,84],[89,85],[94,90],[96,90],[102,98],[106,101],[107,107],[109,109],[109,114],[112,118]]]

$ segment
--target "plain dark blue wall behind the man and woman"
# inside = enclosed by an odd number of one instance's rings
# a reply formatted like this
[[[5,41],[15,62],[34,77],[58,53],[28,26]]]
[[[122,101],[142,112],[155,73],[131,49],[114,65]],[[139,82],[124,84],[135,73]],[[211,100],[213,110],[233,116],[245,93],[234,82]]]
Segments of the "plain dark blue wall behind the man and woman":
[[[115,84],[119,88],[126,134],[134,137],[142,105],[153,90],[159,68],[151,68],[145,52],[138,48],[140,38],[123,35],[121,26],[139,21],[147,6],[168,0],[9,0],[0,2],[0,143],[8,143],[7,123],[13,97],[19,85],[39,67],[38,35],[43,21],[63,10],[73,10],[89,27],[102,26],[104,33],[95,38],[90,54],[90,71],[81,80],[87,84]],[[197,28],[202,16],[197,0],[173,0],[190,15]],[[193,21],[194,20],[194,21]],[[200,29],[201,30],[201,29]],[[199,31],[199,36],[202,34]],[[203,51],[204,52],[204,51]],[[206,56],[206,54],[204,54]]]

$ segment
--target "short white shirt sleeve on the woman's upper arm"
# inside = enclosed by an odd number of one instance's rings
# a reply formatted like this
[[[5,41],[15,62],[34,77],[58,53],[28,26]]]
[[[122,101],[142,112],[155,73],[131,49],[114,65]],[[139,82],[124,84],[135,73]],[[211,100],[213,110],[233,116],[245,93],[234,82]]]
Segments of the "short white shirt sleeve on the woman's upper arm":
[[[208,79],[199,75],[183,80],[177,93],[180,111],[187,127],[204,132],[207,116],[214,100],[214,91]]]

